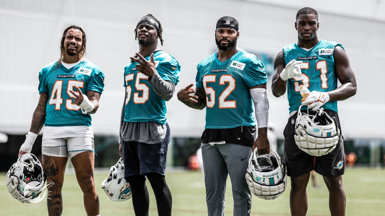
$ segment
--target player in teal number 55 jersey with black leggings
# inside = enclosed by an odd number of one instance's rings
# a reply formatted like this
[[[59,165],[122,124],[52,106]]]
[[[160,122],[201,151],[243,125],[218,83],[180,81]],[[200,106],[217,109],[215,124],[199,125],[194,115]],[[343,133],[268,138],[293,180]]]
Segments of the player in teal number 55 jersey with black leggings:
[[[174,56],[157,49],[158,38],[163,45],[162,32],[162,25],[154,16],[144,16],[135,28],[139,52],[124,68],[126,96],[119,149],[136,215],[148,215],[146,176],[155,194],[158,214],[171,215],[172,197],[164,176],[170,141],[166,101],[174,94],[181,67]]]

